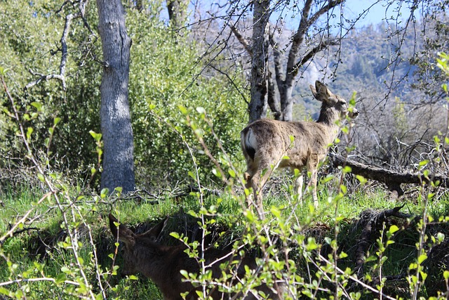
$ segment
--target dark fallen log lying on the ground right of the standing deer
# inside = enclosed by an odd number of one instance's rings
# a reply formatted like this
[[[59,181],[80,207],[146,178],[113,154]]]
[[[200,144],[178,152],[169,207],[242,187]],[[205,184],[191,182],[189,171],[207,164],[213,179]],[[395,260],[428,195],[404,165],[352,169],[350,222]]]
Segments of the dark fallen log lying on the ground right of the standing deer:
[[[348,159],[347,157],[339,155],[335,152],[329,152],[329,158],[330,162],[333,164],[333,167],[351,167],[352,174],[384,183],[391,192],[396,192],[398,196],[401,196],[404,193],[401,188],[402,183],[422,185],[433,181],[434,183],[439,182],[439,186],[441,187],[449,188],[448,176],[441,174],[431,174],[426,177],[418,173],[391,171],[381,167],[356,162],[355,160]]]

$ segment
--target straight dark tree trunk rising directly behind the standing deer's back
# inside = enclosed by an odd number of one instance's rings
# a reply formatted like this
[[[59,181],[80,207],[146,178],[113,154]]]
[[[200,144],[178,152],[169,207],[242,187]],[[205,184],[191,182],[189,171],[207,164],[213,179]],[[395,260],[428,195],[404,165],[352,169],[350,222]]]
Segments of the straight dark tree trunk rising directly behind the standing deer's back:
[[[251,63],[251,100],[249,122],[265,117],[268,93],[269,0],[253,3],[253,61]]]

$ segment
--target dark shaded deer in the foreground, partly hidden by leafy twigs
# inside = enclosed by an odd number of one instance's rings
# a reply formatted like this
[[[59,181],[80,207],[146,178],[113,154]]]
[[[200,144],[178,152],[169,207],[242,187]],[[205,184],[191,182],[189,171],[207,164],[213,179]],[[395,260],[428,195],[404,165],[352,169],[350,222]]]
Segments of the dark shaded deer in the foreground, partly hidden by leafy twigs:
[[[148,230],[146,233],[135,234],[132,230],[128,229],[123,224],[117,227],[117,219],[109,214],[109,228],[112,235],[116,240],[120,240],[124,243],[123,247],[123,260],[124,268],[123,275],[132,275],[135,273],[142,273],[145,277],[151,279],[157,287],[159,287],[164,300],[182,299],[181,293],[187,293],[185,299],[193,300],[198,299],[197,291],[200,288],[195,288],[191,282],[183,280],[181,270],[186,270],[187,273],[200,272],[199,262],[189,257],[185,252],[187,247],[184,244],[178,246],[163,246],[158,242],[157,237],[160,235],[161,230],[166,224],[167,219]],[[220,264],[229,263],[239,260],[235,266],[236,270],[228,270],[233,276],[234,282],[243,278],[245,275],[245,266],[254,270],[257,268],[254,259],[244,257],[243,259],[218,249],[208,249],[203,253],[205,259],[205,265],[208,266],[208,270],[212,271],[213,278],[220,278],[222,276],[222,269]],[[232,285],[232,282],[227,282]],[[280,283],[275,283],[274,287],[269,288],[267,285],[260,285],[257,287],[257,291],[264,292],[269,296],[269,299],[282,299],[282,290],[285,289]],[[210,290],[212,299],[231,299],[232,295],[219,292],[217,287],[213,287]],[[238,296],[239,299],[243,295]],[[236,299],[236,298],[232,298]],[[260,296],[255,296],[248,292],[243,299],[261,299]]]

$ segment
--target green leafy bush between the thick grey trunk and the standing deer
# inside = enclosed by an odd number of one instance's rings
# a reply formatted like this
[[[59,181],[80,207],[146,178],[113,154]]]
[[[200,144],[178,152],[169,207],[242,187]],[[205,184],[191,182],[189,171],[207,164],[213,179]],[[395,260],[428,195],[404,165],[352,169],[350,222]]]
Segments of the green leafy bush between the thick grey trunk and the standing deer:
[[[203,180],[210,177],[212,166],[200,145],[187,147],[186,141],[192,141],[193,136],[182,110],[206,110],[220,143],[235,159],[240,155],[244,103],[222,74],[196,77],[205,67],[199,61],[196,42],[187,37],[174,38],[173,32],[155,18],[137,11],[127,15],[133,39],[130,101],[138,176],[141,183],[175,183],[187,177],[195,162],[201,165]],[[243,77],[236,78],[234,84],[243,84]],[[180,110],[180,105],[185,108]],[[213,141],[210,129],[200,120],[200,110],[194,118],[198,119],[198,130],[204,131],[205,140]],[[217,155],[217,150],[217,145],[211,145],[213,155]]]

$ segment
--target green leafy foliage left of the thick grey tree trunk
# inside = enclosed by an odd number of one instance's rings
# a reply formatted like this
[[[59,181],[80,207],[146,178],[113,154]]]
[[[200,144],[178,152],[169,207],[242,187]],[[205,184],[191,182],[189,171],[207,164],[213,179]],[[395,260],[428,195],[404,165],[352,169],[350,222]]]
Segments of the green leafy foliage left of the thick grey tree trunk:
[[[60,81],[55,79],[44,80],[24,89],[42,76],[59,73],[61,50],[58,43],[65,25],[65,13],[76,12],[71,6],[58,11],[62,2],[50,4],[48,1],[32,1],[25,5],[18,1],[0,3],[1,11],[5,12],[0,16],[0,34],[4,41],[0,45],[4,53],[0,65],[6,70],[8,82],[11,82],[11,93],[21,100],[16,105],[30,116],[24,119],[24,125],[34,129],[33,148],[45,150],[48,127],[52,126],[53,119],[59,118],[61,122],[52,133],[53,155],[50,158],[76,171],[78,167],[83,169],[94,161],[95,157],[91,154],[94,145],[88,131],[99,131],[100,127],[100,94],[96,86],[100,84],[101,66],[98,63],[86,63],[88,57],[95,55],[92,52],[95,37],[91,32],[83,30],[81,19],[72,22],[67,40],[70,49],[66,65],[67,90],[64,91]],[[86,22],[95,25],[92,10],[90,6]],[[0,105],[11,112],[11,103],[4,93],[1,94]],[[3,120],[0,124],[5,133],[0,137],[1,156],[20,157],[20,153],[25,150],[15,134],[18,128],[13,122],[8,122],[7,115],[2,114],[0,120]],[[18,162],[21,163],[27,164]],[[1,166],[6,166],[4,160]]]

